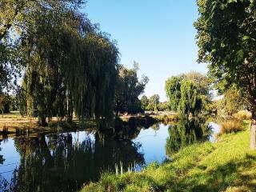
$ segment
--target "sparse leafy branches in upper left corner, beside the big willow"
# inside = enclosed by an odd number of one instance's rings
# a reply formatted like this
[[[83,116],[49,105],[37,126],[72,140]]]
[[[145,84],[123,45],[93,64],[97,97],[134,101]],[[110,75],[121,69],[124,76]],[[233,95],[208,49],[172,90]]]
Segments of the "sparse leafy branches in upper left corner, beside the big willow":
[[[0,86],[1,90],[14,89],[22,67],[24,54],[22,39],[34,33],[31,26],[38,18],[45,18],[48,10],[54,18],[62,18],[70,10],[85,5],[83,0],[2,0],[0,2]],[[38,23],[40,25],[40,23]],[[35,26],[35,25],[34,25]],[[50,32],[50,30],[48,30]],[[25,53],[26,54],[26,53]]]

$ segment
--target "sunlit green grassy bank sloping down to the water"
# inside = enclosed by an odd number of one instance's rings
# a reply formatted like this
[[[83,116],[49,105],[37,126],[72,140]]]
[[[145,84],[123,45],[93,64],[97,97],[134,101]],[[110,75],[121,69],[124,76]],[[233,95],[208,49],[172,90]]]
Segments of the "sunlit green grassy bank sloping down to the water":
[[[256,191],[256,151],[246,130],[224,134],[218,142],[188,146],[163,165],[139,173],[102,174],[82,191]]]

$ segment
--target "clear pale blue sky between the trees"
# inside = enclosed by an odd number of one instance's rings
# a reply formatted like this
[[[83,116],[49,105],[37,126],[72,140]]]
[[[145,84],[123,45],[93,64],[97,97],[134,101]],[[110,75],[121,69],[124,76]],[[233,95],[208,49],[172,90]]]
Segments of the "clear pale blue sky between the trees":
[[[195,0],[87,0],[82,11],[118,42],[122,65],[139,63],[139,77],[150,78],[147,97],[159,94],[166,101],[165,82],[172,75],[207,72],[196,62]]]

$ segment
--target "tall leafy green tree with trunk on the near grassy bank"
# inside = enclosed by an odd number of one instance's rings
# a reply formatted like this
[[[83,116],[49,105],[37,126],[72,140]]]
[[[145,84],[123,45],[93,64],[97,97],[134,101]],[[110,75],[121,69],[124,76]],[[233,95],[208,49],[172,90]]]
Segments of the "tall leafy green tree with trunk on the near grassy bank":
[[[221,92],[236,86],[252,111],[251,148],[256,148],[256,2],[198,0],[198,62],[206,62]]]

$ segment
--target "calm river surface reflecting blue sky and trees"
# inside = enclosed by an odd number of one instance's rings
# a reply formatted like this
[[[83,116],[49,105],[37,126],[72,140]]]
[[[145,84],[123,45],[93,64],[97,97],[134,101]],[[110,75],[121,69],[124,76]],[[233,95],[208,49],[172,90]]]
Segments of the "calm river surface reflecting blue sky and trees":
[[[130,139],[96,131],[6,138],[0,142],[0,191],[78,191],[84,183],[98,181],[102,171],[117,166],[139,171],[210,138],[209,127],[197,121],[138,127],[133,133]]]

